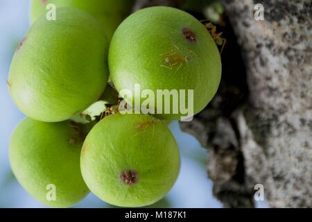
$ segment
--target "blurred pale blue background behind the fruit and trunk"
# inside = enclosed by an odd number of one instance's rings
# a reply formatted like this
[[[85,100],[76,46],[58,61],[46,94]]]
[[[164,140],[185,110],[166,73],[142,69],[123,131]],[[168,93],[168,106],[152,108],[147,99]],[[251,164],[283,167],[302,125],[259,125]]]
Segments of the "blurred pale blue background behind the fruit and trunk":
[[[21,188],[8,160],[10,135],[24,118],[8,93],[6,79],[12,55],[28,30],[30,1],[0,0],[0,207],[45,207]],[[150,207],[222,207],[212,196],[207,177],[207,151],[194,137],[182,133],[178,123],[170,126],[182,155],[180,177],[168,196]],[[112,207],[89,194],[76,207]]]

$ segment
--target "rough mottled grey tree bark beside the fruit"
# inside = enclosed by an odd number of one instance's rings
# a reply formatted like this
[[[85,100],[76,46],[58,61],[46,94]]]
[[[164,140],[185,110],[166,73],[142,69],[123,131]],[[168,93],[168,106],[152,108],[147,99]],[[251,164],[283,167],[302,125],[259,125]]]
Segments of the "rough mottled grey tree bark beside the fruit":
[[[209,150],[214,195],[225,207],[252,207],[258,183],[270,207],[312,207],[311,1],[223,3],[241,46],[248,100],[220,112],[233,103],[223,84],[180,126]],[[256,3],[265,21],[254,19]]]

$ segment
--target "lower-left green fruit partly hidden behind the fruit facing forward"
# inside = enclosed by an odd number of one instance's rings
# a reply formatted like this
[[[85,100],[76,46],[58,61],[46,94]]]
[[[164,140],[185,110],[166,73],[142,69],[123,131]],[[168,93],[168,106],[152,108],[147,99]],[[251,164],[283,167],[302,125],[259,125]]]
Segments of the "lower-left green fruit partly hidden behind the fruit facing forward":
[[[80,173],[83,139],[77,136],[69,121],[44,123],[30,118],[21,121],[12,133],[12,171],[21,186],[41,203],[70,207],[89,193]],[[55,185],[55,201],[46,200],[49,184]]]

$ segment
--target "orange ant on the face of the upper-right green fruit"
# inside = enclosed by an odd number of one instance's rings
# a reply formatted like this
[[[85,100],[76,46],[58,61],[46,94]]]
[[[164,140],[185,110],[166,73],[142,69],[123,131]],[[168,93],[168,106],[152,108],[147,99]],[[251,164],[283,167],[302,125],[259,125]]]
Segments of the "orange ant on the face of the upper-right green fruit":
[[[166,56],[166,58],[164,58],[164,65],[160,66],[172,70],[175,65],[179,65],[177,69],[175,69],[176,73],[184,63],[187,65],[187,67],[189,67],[189,60],[187,60],[187,56],[189,56],[189,53],[193,53],[193,51],[189,51],[186,56],[180,57],[180,55],[178,54],[178,52],[180,52],[179,47],[175,44],[173,44],[173,46],[175,47],[175,49],[171,49],[166,53],[160,54],[160,56]]]

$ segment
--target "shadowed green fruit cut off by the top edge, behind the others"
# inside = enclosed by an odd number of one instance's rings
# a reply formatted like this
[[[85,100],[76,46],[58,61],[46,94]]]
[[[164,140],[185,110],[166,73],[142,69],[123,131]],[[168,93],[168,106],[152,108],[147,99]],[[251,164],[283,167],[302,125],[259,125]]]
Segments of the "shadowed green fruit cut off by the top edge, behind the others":
[[[116,28],[131,12],[132,0],[33,0],[31,3],[31,23],[46,13],[46,5],[54,3],[56,8],[73,7],[93,15],[104,27],[110,40]]]

